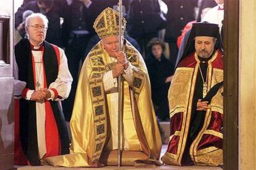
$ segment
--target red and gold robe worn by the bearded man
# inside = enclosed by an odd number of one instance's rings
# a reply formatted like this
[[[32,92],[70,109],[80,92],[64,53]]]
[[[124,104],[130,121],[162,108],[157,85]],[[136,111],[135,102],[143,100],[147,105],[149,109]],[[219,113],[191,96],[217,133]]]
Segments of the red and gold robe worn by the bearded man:
[[[223,81],[223,60],[221,51],[216,51],[207,68],[207,92],[215,84]],[[162,157],[166,164],[171,165],[200,165],[220,166],[223,163],[223,97],[220,88],[211,99],[211,108],[205,111],[202,128],[193,140],[189,140],[192,124],[192,108],[197,87],[200,60],[196,53],[190,54],[182,60],[174,74],[169,88],[170,137],[168,150]],[[187,152],[186,152],[187,150]],[[190,162],[188,162],[189,157]]]

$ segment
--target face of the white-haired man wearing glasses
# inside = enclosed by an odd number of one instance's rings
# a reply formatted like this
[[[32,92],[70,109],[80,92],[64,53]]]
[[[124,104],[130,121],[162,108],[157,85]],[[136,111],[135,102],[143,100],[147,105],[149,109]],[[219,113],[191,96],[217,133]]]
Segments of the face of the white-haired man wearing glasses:
[[[26,30],[30,42],[41,44],[46,37],[47,23],[40,17],[34,17],[29,20]]]

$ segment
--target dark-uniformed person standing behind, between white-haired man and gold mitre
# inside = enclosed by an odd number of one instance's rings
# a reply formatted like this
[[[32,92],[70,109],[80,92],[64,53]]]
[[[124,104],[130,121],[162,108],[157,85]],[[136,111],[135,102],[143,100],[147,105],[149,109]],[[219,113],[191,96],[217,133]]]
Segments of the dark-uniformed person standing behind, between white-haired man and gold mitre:
[[[85,59],[88,42],[96,39],[93,22],[100,12],[108,6],[114,6],[117,1],[102,0],[67,0],[67,10],[62,25],[62,39],[64,42],[67,62],[73,77],[69,98],[63,102],[66,121],[70,121],[75,99],[75,91],[79,78],[80,63]],[[90,40],[92,39],[92,40]],[[96,42],[97,43],[97,42]],[[96,44],[95,43],[95,44]],[[93,46],[95,45],[93,44]],[[90,46],[91,48],[93,46]]]

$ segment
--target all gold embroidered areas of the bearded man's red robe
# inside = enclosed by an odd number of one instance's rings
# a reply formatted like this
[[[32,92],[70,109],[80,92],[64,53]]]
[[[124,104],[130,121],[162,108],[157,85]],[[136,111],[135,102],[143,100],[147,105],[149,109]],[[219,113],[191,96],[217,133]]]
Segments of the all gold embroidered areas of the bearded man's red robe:
[[[208,62],[209,67],[208,67],[208,91],[210,90],[210,87],[214,86],[216,83],[220,83],[223,79],[223,76],[221,74],[222,70],[219,70],[220,73],[218,73],[218,70],[215,68],[212,68],[211,66],[211,62],[213,60],[216,59],[217,53],[215,53],[215,55],[213,55],[213,58],[210,60],[210,62]],[[168,153],[166,152],[163,156],[163,161],[165,163],[168,164],[174,164],[174,165],[181,165],[181,159],[182,159],[182,155],[184,152],[184,148],[186,146],[186,142],[182,142],[182,141],[186,141],[187,140],[187,134],[188,134],[188,129],[190,126],[190,115],[191,115],[191,110],[192,110],[192,98],[193,98],[193,92],[195,89],[195,81],[197,78],[197,72],[198,72],[198,64],[199,64],[199,60],[197,58],[197,55],[195,54],[195,60],[197,61],[197,65],[195,66],[195,68],[177,68],[176,73],[174,75],[174,81],[173,84],[171,84],[171,87],[169,89],[169,95],[168,94],[168,99],[169,99],[169,106],[170,106],[170,116],[175,115],[176,113],[179,112],[183,112],[184,113],[184,117],[182,119],[182,129],[181,129],[181,133],[179,134],[180,136],[180,140],[178,143],[178,148],[177,148],[177,155],[174,155],[172,153]],[[184,70],[183,70],[184,69]],[[186,75],[182,75],[182,73],[180,71],[184,71],[185,69],[187,70],[191,70],[191,76],[186,77]],[[177,82],[176,76],[177,74],[179,74],[179,78],[181,78],[180,80],[178,80],[178,82],[181,82],[181,84],[175,84],[175,82]],[[182,80],[182,76],[186,77],[187,82],[185,82],[184,80]],[[212,79],[211,79],[212,78]],[[176,79],[176,80],[175,80]],[[218,79],[216,81],[216,79]],[[179,101],[179,96],[181,96],[181,94],[184,92],[184,89],[186,89],[185,87],[182,87],[187,85],[187,89],[190,89],[190,91],[187,91],[185,95],[185,97],[181,97],[181,99],[189,101],[188,103],[184,103],[184,101],[181,100],[181,102]],[[181,90],[182,89],[182,90]],[[221,106],[220,105],[216,105],[214,104],[213,100],[214,98],[217,98],[216,100],[218,100],[218,102],[220,103],[220,97],[221,96],[221,91],[222,89],[220,89],[220,92],[218,92],[217,95],[215,95],[215,97],[213,97],[213,99],[211,100],[211,108],[213,110],[221,110]],[[173,95],[174,94],[174,95]],[[183,103],[182,103],[183,102]],[[213,104],[212,104],[213,103]],[[223,111],[220,111],[220,113],[223,113]],[[205,117],[205,124],[203,126],[202,129],[207,129],[208,124],[210,123],[210,119],[211,119],[211,114],[210,114],[210,110],[207,111],[206,113],[206,117]],[[213,132],[213,131],[207,131],[207,134],[212,134],[218,137],[222,137],[222,134],[219,132]],[[217,150],[213,150],[210,153],[207,153],[206,155],[198,155],[197,152],[197,146],[198,143],[200,142],[200,139],[202,139],[202,135],[203,132],[201,131],[200,134],[198,134],[197,139],[194,140],[194,142],[192,143],[191,147],[190,147],[190,155],[192,158],[192,161],[194,161],[197,165],[207,165],[204,163],[208,163],[211,164],[213,166],[216,165],[220,165],[220,163],[222,162],[222,155],[219,155],[220,153],[222,153],[221,149],[217,149]],[[171,138],[173,138],[173,136],[171,136]],[[207,151],[207,150],[205,150]],[[213,156],[213,159],[209,159],[210,156]]]

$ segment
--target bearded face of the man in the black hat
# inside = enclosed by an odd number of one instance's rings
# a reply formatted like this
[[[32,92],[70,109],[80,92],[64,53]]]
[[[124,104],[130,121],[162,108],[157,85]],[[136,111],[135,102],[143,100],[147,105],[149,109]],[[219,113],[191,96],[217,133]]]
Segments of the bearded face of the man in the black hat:
[[[195,37],[195,52],[201,58],[208,59],[215,47],[216,39],[209,36]]]

